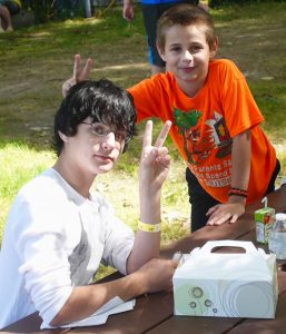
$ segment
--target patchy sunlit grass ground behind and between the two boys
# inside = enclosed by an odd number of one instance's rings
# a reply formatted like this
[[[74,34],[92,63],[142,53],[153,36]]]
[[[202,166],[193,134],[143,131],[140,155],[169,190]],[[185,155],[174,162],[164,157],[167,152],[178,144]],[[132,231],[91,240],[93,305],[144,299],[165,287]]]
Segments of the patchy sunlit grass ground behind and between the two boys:
[[[211,9],[219,36],[218,57],[231,58],[247,77],[266,121],[263,127],[278,147],[286,175],[286,3],[224,6]],[[91,78],[107,77],[130,87],[149,75],[140,9],[129,26],[121,8],[103,17],[48,22],[0,36],[0,243],[4,222],[18,189],[51,166],[52,117],[61,100],[61,85],[71,75],[73,55],[92,57]],[[160,122],[156,121],[155,132]],[[139,125],[139,134],[144,125]],[[185,165],[170,139],[174,160],[162,191],[162,243],[189,232]],[[138,217],[137,171],[141,137],[136,138],[116,170],[96,186],[132,228]],[[116,191],[115,191],[116,190]]]

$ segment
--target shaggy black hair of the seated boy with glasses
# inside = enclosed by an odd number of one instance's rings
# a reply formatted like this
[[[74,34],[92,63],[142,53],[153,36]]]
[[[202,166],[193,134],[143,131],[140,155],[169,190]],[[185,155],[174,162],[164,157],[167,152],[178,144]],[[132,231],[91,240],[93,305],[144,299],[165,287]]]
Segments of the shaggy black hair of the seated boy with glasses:
[[[68,137],[77,135],[78,126],[87,117],[103,122],[115,130],[136,135],[136,109],[132,96],[108,79],[81,81],[70,88],[55,115],[53,148],[59,156],[63,141],[59,131]],[[124,151],[127,149],[125,144]]]

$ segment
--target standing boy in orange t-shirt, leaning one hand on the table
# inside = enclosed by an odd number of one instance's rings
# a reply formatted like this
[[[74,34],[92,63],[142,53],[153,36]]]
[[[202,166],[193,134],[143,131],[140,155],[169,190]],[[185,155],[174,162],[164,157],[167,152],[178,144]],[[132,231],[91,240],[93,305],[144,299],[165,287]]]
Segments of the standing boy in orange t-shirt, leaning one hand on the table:
[[[218,49],[211,16],[179,4],[158,21],[157,45],[168,72],[129,89],[137,119],[171,120],[170,136],[187,163],[191,230],[235,223],[245,205],[274,190],[279,173],[276,153],[245,77]],[[69,85],[87,78],[77,56]],[[73,81],[72,81],[73,80]]]

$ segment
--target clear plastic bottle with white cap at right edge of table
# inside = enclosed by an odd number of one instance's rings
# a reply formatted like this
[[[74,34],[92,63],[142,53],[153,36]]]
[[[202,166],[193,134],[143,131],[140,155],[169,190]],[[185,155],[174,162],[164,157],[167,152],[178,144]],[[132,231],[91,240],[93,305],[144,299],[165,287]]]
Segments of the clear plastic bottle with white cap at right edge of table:
[[[286,258],[286,214],[276,214],[268,243],[277,259]]]

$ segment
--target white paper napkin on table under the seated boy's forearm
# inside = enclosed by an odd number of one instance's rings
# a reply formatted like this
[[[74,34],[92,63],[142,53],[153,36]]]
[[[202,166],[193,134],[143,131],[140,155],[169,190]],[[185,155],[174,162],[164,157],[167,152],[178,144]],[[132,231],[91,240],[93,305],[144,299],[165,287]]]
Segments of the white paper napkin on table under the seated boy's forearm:
[[[110,314],[134,310],[135,303],[136,299],[125,302],[119,297],[115,297],[108,301],[103,306],[101,306],[97,312],[91,314],[89,317],[82,318],[81,321],[78,322],[69,323],[67,325],[62,325],[61,327],[71,328],[71,327],[102,325],[107,322],[107,318]],[[53,328],[53,327],[42,323],[41,330],[43,328]]]

